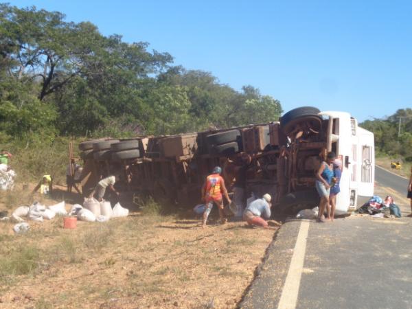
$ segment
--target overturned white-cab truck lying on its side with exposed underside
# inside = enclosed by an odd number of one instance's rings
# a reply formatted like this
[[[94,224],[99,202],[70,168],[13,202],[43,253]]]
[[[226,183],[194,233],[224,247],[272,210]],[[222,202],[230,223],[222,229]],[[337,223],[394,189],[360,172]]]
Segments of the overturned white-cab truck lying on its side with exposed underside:
[[[119,176],[117,189],[129,193],[125,196],[149,194],[172,205],[193,206],[201,200],[201,186],[215,165],[222,167],[230,191],[240,157],[247,153],[247,193],[268,192],[277,211],[294,213],[318,205],[314,171],[318,158],[328,151],[343,163],[336,214],[356,208],[358,196],[374,191],[374,135],[348,113],[310,106],[289,111],[279,122],[172,136],[95,139],[80,143],[79,149],[84,194],[114,173]]]

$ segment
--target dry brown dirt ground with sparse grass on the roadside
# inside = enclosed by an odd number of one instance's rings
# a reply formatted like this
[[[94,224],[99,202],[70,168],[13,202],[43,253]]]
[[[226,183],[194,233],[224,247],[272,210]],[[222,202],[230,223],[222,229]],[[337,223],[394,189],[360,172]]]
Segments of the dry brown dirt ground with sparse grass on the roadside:
[[[0,211],[30,203],[15,195]],[[0,308],[236,308],[277,229],[137,211],[74,230],[28,222],[21,235],[0,222]]]

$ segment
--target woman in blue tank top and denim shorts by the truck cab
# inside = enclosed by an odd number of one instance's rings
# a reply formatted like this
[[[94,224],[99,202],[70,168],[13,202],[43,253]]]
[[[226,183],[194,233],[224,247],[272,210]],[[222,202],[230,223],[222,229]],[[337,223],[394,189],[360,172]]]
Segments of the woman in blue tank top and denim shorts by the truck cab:
[[[319,214],[317,217],[318,222],[325,222],[324,212],[329,205],[330,183],[333,177],[333,161],[336,158],[334,152],[329,152],[326,161],[322,161],[319,170],[317,170],[315,181],[316,190],[319,193],[321,202],[319,205]]]

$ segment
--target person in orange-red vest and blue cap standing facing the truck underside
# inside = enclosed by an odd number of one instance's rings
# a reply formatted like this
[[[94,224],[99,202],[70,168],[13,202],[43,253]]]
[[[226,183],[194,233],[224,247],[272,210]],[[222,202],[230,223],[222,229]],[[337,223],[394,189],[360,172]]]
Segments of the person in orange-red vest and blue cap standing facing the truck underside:
[[[225,214],[223,212],[223,198],[222,194],[227,199],[227,202],[230,204],[231,199],[227,194],[225,180],[220,176],[222,173],[222,168],[216,166],[213,169],[213,172],[207,176],[205,183],[202,187],[202,199],[205,201],[205,211],[203,212],[203,227],[206,227],[207,218],[209,217],[211,208],[213,207],[214,203],[218,205],[220,222],[225,224],[227,219],[225,218]]]

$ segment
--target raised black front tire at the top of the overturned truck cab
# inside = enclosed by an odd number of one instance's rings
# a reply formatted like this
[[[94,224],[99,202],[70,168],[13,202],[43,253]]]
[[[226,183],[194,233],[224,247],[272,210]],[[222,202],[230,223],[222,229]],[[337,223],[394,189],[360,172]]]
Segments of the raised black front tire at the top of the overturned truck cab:
[[[303,106],[288,111],[285,115],[280,118],[280,128],[284,133],[288,134],[293,131],[294,127],[299,124],[302,120],[306,122],[311,122],[312,128],[314,130],[319,130],[321,127],[322,117],[318,114],[319,111],[316,107]]]

